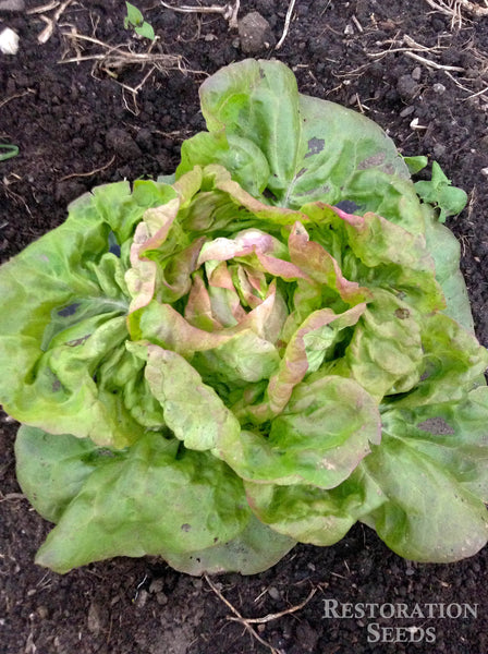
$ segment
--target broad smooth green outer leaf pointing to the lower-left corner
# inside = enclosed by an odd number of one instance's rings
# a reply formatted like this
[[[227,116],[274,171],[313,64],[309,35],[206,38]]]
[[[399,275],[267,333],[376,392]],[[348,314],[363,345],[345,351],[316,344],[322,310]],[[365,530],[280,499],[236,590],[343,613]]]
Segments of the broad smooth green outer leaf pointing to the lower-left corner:
[[[86,479],[36,561],[66,572],[113,556],[198,552],[248,521],[242,482],[223,463],[149,433]]]

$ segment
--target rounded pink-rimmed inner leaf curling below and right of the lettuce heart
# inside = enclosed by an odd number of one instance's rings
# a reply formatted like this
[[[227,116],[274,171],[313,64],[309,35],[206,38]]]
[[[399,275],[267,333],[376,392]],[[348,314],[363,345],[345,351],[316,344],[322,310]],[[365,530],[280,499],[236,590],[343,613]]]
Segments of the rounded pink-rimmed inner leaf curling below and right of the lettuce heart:
[[[249,431],[240,437],[222,433],[217,453],[246,481],[332,488],[379,438],[373,398],[352,379],[322,376],[294,389],[268,438]]]

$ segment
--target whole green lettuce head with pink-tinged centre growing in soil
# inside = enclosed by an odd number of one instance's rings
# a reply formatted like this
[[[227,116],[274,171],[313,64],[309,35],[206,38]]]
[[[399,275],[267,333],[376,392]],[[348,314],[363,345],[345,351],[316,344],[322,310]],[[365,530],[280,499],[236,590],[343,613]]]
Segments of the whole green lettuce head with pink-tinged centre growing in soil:
[[[459,245],[371,121],[247,60],[174,179],[99,186],[0,269],[0,401],[58,572],[261,571],[362,521],[487,542],[487,351]]]

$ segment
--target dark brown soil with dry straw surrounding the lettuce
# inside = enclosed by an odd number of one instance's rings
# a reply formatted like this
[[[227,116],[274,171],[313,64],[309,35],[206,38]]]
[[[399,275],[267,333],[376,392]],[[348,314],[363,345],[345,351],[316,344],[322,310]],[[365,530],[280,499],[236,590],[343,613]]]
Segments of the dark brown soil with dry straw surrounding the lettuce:
[[[365,112],[404,155],[429,155],[468,193],[468,207],[449,225],[462,243],[476,331],[488,346],[488,17],[461,2],[444,5],[455,5],[450,16],[424,0],[297,0],[274,49],[289,2],[242,0],[239,19],[256,11],[268,25],[251,21],[257,26],[240,36],[220,14],[176,13],[139,0],[159,37],[152,52],[167,56],[143,66],[120,53],[145,52],[149,43],[124,31],[123,2],[72,0],[39,12],[38,1],[23,4],[0,1],[0,31],[9,26],[20,36],[16,56],[0,55],[0,142],[20,148],[0,162],[3,261],[58,226],[68,203],[93,186],[172,172],[181,142],[204,128],[203,80],[248,53],[276,57],[293,68],[303,93]],[[356,525],[333,547],[297,546],[271,570],[246,578],[209,582],[151,558],[114,559],[63,577],[38,568],[34,555],[49,525],[16,485],[15,429],[3,416],[4,654],[252,654],[271,646],[283,654],[488,652],[487,548],[455,565],[416,565]],[[219,593],[247,618],[289,613],[254,625],[266,645],[229,619],[236,616]],[[338,601],[343,618],[326,613],[327,600]],[[410,611],[419,604],[424,614],[428,603],[451,608],[444,617],[440,609],[432,617],[389,617],[387,608],[362,618],[343,603],[403,603]]]

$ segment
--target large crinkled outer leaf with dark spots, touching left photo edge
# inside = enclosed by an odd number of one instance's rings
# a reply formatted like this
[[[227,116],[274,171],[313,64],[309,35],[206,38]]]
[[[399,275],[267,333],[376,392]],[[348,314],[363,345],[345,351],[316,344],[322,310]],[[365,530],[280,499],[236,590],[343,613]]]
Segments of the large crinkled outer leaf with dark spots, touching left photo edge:
[[[0,315],[0,401],[15,419],[119,447],[142,434],[97,372],[127,338],[126,241],[151,203],[174,196],[167,190],[100,186],[2,266],[0,295],[14,311]]]

